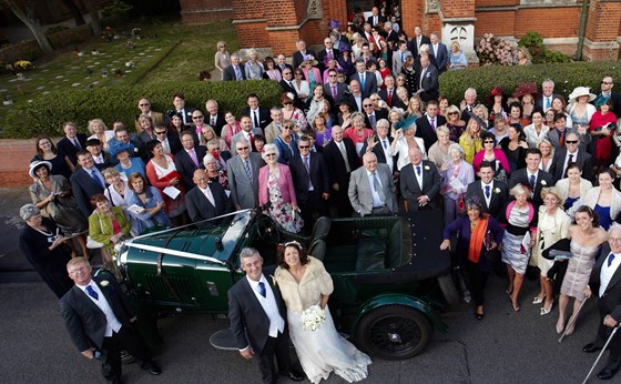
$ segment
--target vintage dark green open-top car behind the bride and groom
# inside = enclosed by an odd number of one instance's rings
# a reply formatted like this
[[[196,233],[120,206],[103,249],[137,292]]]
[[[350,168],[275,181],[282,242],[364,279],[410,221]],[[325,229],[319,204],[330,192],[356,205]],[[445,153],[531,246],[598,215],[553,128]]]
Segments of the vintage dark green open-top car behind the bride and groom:
[[[420,353],[434,329],[446,332],[436,312],[445,301],[458,300],[449,255],[438,247],[441,214],[434,211],[320,218],[309,236],[285,232],[251,210],[202,226],[135,238],[120,252],[128,294],[153,331],[166,314],[226,315],[227,290],[244,276],[240,251],[257,249],[265,267],[292,240],[324,262],[334,280],[329,307],[336,327],[370,355],[400,360]]]

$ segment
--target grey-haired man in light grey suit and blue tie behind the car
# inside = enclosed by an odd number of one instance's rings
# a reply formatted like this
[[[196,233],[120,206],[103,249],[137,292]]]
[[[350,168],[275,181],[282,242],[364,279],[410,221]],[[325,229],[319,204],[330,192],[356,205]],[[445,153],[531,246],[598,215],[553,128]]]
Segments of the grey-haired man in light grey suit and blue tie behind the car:
[[[377,162],[373,152],[363,155],[363,166],[352,172],[349,179],[349,202],[355,214],[385,215],[398,210],[395,199],[395,182],[390,168]]]

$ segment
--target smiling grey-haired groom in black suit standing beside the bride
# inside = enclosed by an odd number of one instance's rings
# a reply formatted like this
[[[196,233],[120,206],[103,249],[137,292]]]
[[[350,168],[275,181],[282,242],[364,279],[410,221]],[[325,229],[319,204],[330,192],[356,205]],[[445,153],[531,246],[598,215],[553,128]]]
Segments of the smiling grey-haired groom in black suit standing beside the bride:
[[[257,250],[245,247],[240,259],[246,277],[228,290],[231,332],[240,354],[247,360],[258,355],[263,383],[276,383],[278,375],[274,355],[279,375],[296,382],[304,380],[299,372],[291,368],[285,304],[281,292],[263,274],[263,257]]]

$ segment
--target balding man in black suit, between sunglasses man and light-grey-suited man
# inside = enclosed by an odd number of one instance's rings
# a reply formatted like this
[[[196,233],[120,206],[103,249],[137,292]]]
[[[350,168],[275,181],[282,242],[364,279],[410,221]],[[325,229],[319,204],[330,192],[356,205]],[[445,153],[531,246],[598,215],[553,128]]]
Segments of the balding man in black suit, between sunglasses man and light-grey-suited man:
[[[332,205],[338,216],[348,218],[352,214],[352,204],[347,195],[349,175],[360,166],[360,158],[356,146],[349,139],[343,138],[343,128],[332,128],[332,141],[324,148],[324,160],[330,173]]]

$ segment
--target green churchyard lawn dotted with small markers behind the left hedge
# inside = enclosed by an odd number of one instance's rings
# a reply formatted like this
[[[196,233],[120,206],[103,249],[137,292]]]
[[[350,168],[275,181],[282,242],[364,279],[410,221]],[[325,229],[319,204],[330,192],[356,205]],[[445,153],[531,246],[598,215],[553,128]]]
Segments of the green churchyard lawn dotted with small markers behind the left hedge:
[[[125,26],[125,30],[134,27],[142,29],[144,38],[134,40],[133,49],[128,47],[128,38],[111,42],[93,38],[80,46],[84,55],[57,52],[51,60],[35,61],[33,70],[23,72],[24,80],[18,80],[14,74],[0,75],[0,99],[13,101],[10,105],[0,104],[0,132],[6,115],[40,94],[70,88],[119,88],[122,92],[123,88],[135,84],[197,81],[198,72],[214,69],[218,40],[227,42],[230,52],[238,49],[235,29],[230,21],[202,26],[179,22],[131,24]],[[100,54],[93,55],[93,50]],[[130,61],[134,68],[125,65]],[[102,74],[104,70],[106,77]],[[122,74],[115,75],[114,70],[122,71]]]

